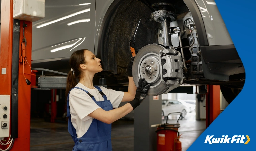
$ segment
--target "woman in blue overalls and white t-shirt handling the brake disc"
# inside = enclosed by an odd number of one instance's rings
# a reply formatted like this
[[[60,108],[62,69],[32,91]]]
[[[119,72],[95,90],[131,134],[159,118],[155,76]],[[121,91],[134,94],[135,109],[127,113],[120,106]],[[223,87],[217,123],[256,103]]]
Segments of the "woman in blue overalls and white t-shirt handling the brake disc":
[[[112,150],[111,123],[134,110],[145,99],[150,87],[141,78],[136,88],[131,72],[133,59],[128,65],[128,92],[121,92],[93,86],[94,74],[103,69],[101,60],[91,51],[82,49],[71,55],[66,97],[68,131],[75,142],[73,151]],[[80,80],[78,84],[76,79]],[[125,101],[130,102],[118,108],[120,102]]]

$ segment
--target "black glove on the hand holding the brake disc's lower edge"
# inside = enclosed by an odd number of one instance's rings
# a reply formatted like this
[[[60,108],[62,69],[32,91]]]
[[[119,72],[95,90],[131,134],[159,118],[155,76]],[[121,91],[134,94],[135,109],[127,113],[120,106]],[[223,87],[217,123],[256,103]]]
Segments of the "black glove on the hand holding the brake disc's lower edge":
[[[136,95],[132,101],[128,102],[132,105],[133,109],[139,106],[140,103],[146,98],[149,87],[150,85],[144,78],[139,79]]]

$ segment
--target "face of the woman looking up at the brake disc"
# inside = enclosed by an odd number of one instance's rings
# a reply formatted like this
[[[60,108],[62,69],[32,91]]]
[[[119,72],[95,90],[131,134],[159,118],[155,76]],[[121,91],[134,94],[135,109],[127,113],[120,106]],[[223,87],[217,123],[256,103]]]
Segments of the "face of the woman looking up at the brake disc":
[[[98,73],[101,72],[103,69],[100,64],[100,59],[96,58],[95,55],[89,51],[86,50],[85,54],[85,62],[86,62],[86,70],[92,73]]]

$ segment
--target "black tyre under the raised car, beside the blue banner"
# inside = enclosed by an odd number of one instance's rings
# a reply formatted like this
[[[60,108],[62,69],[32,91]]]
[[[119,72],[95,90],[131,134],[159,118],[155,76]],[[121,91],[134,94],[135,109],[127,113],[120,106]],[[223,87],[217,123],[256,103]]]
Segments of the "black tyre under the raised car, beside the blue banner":
[[[226,86],[220,86],[220,90],[228,104],[230,104],[235,99],[235,97],[241,92],[241,89],[229,88]]]

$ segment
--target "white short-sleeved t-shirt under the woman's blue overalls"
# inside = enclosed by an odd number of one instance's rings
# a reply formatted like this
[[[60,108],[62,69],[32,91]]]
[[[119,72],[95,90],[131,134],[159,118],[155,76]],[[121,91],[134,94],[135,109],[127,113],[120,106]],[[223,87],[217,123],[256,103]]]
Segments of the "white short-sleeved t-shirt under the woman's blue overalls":
[[[98,89],[89,89],[82,83],[78,83],[75,87],[82,88],[92,94],[96,101],[104,101]],[[124,92],[100,87],[107,99],[112,103],[113,108],[118,108],[123,99]],[[69,93],[69,106],[71,114],[71,123],[76,130],[77,137],[82,137],[89,129],[93,118],[88,116],[96,109],[100,108],[92,98],[83,90],[73,89]]]

